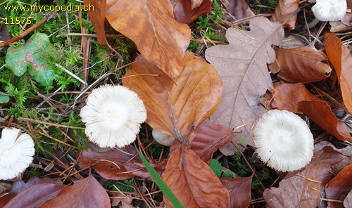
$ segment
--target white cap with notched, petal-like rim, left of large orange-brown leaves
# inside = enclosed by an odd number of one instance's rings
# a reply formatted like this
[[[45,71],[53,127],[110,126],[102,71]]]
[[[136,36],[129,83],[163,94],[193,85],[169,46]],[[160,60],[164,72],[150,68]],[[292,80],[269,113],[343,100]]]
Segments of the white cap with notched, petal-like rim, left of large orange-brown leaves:
[[[106,84],[92,91],[80,116],[89,141],[101,148],[122,148],[136,139],[146,108],[134,91]]]

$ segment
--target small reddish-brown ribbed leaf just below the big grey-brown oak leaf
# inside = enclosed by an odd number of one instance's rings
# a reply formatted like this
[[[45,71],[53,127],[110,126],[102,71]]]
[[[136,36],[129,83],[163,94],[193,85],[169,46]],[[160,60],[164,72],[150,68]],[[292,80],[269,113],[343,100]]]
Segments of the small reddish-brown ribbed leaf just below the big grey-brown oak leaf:
[[[201,124],[194,129],[195,137],[191,142],[191,150],[208,164],[213,153],[232,140],[232,129],[216,124]]]

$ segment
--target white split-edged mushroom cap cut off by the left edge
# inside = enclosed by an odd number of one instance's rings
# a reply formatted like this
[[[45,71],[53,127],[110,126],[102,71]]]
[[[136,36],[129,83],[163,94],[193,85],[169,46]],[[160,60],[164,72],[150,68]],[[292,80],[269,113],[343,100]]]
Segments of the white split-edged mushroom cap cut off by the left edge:
[[[33,161],[34,141],[20,129],[2,129],[0,139],[0,180],[15,178]]]

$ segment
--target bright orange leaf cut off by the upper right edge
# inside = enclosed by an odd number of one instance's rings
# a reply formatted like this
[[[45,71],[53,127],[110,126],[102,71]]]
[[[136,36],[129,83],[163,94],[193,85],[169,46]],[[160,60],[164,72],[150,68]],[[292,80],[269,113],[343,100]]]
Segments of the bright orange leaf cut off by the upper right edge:
[[[325,51],[334,66],[339,80],[344,104],[352,112],[352,56],[334,33],[324,34]]]

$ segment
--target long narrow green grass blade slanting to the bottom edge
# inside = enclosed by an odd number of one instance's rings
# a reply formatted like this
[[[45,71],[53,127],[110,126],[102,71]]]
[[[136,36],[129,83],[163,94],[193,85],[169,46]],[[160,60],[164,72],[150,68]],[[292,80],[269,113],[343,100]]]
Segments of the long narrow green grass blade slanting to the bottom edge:
[[[156,183],[156,186],[158,186],[161,189],[161,191],[163,192],[163,194],[166,197],[168,197],[171,204],[174,207],[180,207],[180,208],[184,207],[182,205],[182,203],[180,202],[180,200],[178,200],[177,197],[175,196],[175,194],[172,192],[172,190],[170,190],[168,185],[163,181],[161,176],[159,176],[158,172],[155,169],[153,169],[153,167],[148,162],[148,160],[146,160],[146,157],[144,157],[144,155],[142,155],[142,153],[139,152],[139,150],[137,150],[137,152],[138,152],[139,157],[141,157],[142,162],[144,163],[144,165],[146,167],[146,170],[149,171],[149,174],[151,174],[151,178]]]

